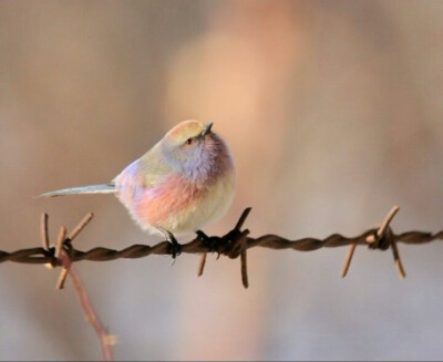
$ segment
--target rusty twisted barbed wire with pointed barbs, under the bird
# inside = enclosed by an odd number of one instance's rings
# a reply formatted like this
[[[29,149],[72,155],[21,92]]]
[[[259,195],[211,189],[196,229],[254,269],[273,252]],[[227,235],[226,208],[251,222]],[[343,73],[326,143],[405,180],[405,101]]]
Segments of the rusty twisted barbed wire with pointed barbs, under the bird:
[[[183,244],[181,252],[183,254],[200,254],[200,262],[198,267],[198,276],[203,275],[207,252],[217,252],[229,258],[240,257],[241,261],[241,278],[245,288],[248,287],[247,276],[247,258],[246,251],[254,247],[262,247],[275,250],[292,249],[298,251],[312,251],[320,248],[333,248],[349,246],[347,257],[344,259],[341,276],[344,277],[349,270],[349,266],[358,245],[367,245],[370,249],[388,250],[391,249],[393,258],[401,278],[405,277],[404,267],[402,265],[396,242],[403,244],[426,244],[434,240],[443,240],[443,230],[432,234],[426,231],[406,231],[395,234],[390,227],[395,214],[400,207],[393,207],[384,218],[383,223],[378,228],[371,228],[354,237],[346,237],[340,234],[332,234],[323,239],[318,238],[302,238],[298,240],[289,240],[278,235],[264,235],[257,238],[249,236],[249,230],[244,229],[243,225],[250,213],[250,208],[246,208],[241,214],[237,225],[233,230],[226,235],[206,236],[203,231],[197,231],[195,239]],[[80,260],[90,261],[107,261],[115,259],[136,259],[144,258],[150,255],[171,255],[175,250],[171,248],[168,241],[161,241],[154,246],[136,244],[127,248],[115,250],[104,247],[92,248],[87,251],[75,249],[72,245],[74,238],[83,230],[83,228],[91,221],[93,214],[87,214],[78,226],[65,237],[59,236],[59,241],[55,246],[51,247],[48,237],[48,215],[42,215],[41,230],[42,230],[42,247],[21,249],[12,252],[0,250],[0,262],[13,261],[21,263],[45,263],[52,267],[62,266],[60,252],[63,250],[72,262]],[[62,227],[64,229],[64,227]],[[58,287],[62,288],[65,275],[64,271],[59,278]]]

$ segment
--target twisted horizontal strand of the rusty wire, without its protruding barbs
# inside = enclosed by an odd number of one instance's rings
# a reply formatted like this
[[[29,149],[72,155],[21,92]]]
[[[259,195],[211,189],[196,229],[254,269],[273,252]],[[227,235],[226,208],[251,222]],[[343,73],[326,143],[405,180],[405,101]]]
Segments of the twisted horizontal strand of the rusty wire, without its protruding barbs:
[[[356,237],[346,237],[340,234],[332,234],[324,239],[302,238],[298,240],[289,240],[278,235],[264,235],[257,238],[244,237],[245,248],[262,247],[274,250],[292,249],[297,251],[313,251],[320,248],[334,248],[349,245],[368,245],[368,237],[374,235],[377,228],[369,229]],[[219,252],[230,258],[239,256],[238,250],[233,250],[233,245],[238,241],[239,234],[234,237],[229,232],[224,237],[208,237],[207,240],[195,238],[194,240],[183,244],[182,252],[184,254],[202,254],[202,252]],[[443,230],[432,234],[426,231],[406,231],[399,235],[392,234],[389,242],[403,242],[408,245],[427,244],[431,241],[443,240]],[[65,245],[70,245],[66,240]],[[208,245],[217,245],[212,248]],[[381,245],[377,249],[385,250],[387,247]],[[121,250],[111,248],[96,247],[87,251],[69,247],[69,255],[72,261],[90,260],[90,261],[107,261],[115,259],[136,259],[144,258],[150,255],[172,255],[169,244],[161,241],[154,246],[136,244]],[[54,262],[54,248],[44,249],[42,247],[21,249],[17,251],[0,250],[0,262],[13,261],[20,263],[48,263]],[[60,265],[59,262],[55,262]]]

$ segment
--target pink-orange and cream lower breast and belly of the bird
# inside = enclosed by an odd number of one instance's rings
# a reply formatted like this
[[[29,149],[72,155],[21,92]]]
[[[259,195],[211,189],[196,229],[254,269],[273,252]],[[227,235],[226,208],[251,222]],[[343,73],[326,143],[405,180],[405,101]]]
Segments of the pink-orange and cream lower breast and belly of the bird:
[[[235,184],[234,168],[204,183],[176,173],[155,185],[145,185],[134,175],[122,179],[117,197],[137,224],[150,231],[163,228],[174,234],[196,230],[222,216],[230,205]]]

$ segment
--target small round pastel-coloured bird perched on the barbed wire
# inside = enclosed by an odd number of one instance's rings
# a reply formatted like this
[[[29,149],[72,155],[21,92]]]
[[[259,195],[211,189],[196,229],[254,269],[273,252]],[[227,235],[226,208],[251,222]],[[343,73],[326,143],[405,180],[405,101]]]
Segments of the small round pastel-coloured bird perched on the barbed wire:
[[[212,122],[183,121],[111,182],[40,196],[114,194],[143,230],[169,241],[175,259],[181,252],[175,236],[204,235],[200,228],[217,221],[234,198],[234,159],[227,143],[212,128]]]

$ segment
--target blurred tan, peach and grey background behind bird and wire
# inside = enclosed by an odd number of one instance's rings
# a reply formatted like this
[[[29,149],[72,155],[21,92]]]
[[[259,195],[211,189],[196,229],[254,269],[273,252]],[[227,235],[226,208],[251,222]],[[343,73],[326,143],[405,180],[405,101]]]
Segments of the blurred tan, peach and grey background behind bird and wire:
[[[154,244],[102,183],[183,120],[213,121],[238,168],[253,236],[443,229],[442,1],[0,2],[0,249],[95,218],[86,250]],[[184,238],[183,241],[189,239]],[[441,360],[443,246],[249,251],[76,265],[119,360]],[[101,359],[70,281],[0,266],[0,359]]]

